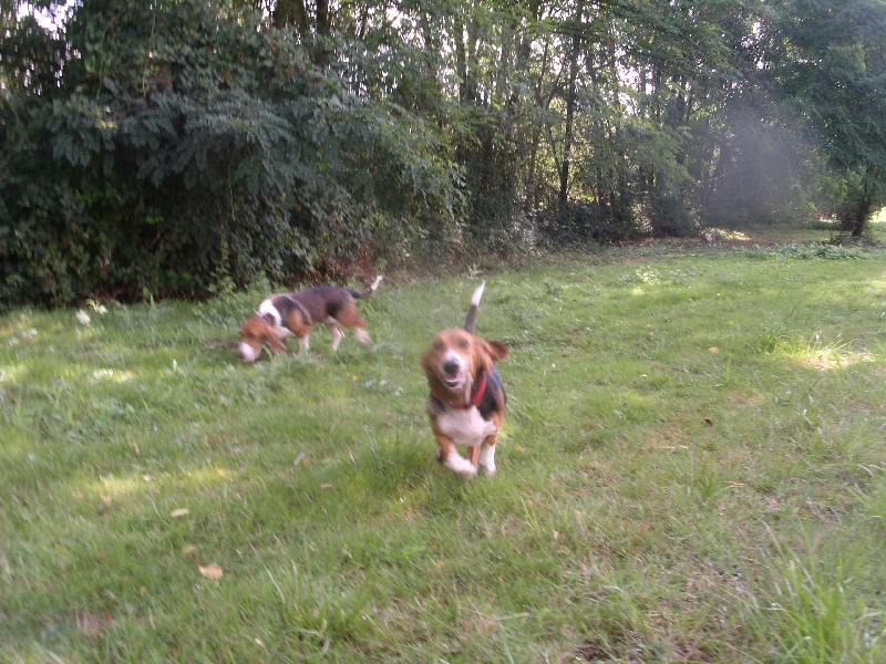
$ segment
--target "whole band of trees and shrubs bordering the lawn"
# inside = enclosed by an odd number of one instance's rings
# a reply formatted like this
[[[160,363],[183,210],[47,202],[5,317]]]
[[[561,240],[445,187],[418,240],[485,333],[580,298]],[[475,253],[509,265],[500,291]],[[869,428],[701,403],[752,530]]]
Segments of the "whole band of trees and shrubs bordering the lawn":
[[[886,201],[883,0],[0,0],[0,308]]]

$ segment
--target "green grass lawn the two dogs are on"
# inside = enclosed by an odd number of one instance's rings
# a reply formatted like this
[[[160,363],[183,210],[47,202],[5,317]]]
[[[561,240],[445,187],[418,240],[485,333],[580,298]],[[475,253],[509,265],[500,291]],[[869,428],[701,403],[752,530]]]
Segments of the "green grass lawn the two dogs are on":
[[[886,251],[754,239],[391,274],[253,365],[265,292],[0,317],[0,661],[884,661]],[[481,279],[464,481],[419,357]]]

